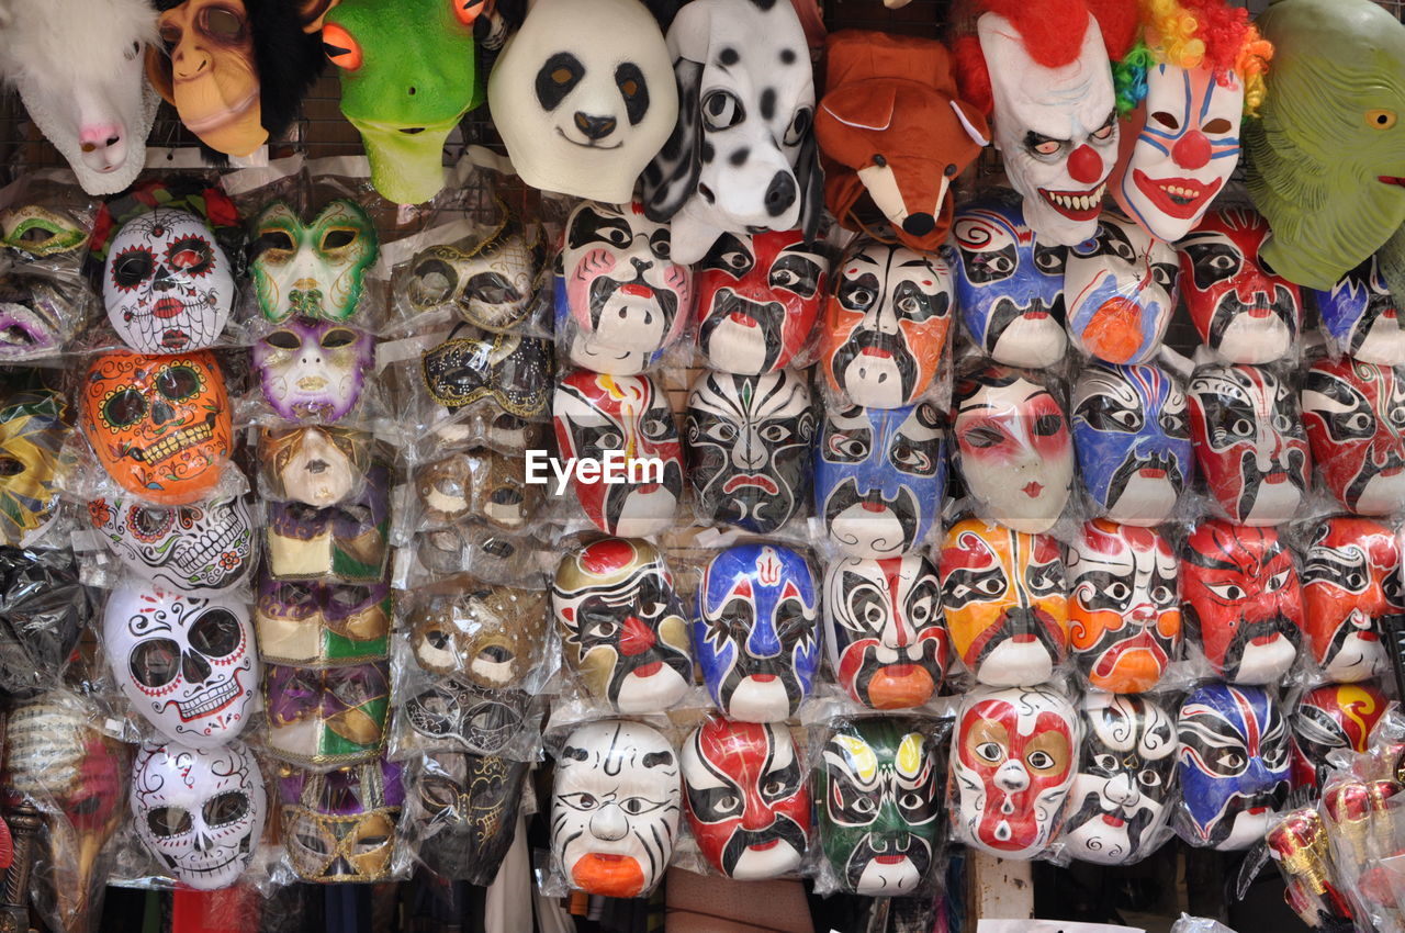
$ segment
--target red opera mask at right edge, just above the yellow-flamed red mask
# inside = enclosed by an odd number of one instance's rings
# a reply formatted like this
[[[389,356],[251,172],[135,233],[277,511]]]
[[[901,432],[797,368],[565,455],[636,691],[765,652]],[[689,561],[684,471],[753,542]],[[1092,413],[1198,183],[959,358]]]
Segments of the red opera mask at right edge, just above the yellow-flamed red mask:
[[[1380,620],[1405,614],[1395,535],[1370,518],[1319,520],[1302,566],[1302,603],[1312,658],[1329,680],[1384,674]]]

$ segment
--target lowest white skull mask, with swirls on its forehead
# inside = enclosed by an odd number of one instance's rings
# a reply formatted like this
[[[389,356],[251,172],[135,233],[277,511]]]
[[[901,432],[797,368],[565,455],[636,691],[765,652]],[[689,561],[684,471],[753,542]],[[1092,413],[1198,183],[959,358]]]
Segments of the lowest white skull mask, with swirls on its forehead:
[[[143,745],[131,804],[146,849],[197,891],[229,887],[243,874],[268,814],[259,763],[243,742]]]

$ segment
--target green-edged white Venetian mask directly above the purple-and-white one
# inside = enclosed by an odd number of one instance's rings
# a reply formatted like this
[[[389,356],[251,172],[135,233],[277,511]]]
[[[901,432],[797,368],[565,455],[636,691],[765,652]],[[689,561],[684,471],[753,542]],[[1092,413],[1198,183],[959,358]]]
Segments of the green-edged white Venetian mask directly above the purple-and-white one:
[[[332,201],[311,223],[285,201],[274,201],[251,232],[249,274],[264,318],[346,320],[355,312],[377,237],[371,218],[354,201]]]

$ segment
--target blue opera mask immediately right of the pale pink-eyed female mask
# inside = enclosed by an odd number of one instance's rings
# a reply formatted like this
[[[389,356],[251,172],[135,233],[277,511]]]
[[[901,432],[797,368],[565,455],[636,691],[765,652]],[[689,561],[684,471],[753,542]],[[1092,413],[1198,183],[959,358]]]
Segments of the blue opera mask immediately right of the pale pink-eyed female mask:
[[[1073,389],[1083,492],[1113,521],[1156,526],[1194,475],[1186,392],[1155,365],[1089,365]]]

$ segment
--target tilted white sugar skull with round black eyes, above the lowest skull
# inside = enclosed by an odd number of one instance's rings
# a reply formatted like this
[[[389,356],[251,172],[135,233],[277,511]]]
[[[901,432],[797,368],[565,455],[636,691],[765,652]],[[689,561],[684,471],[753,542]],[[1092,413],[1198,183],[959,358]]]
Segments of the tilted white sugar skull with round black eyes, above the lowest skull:
[[[260,663],[243,601],[124,585],[108,596],[103,645],[132,708],[167,739],[212,749],[247,725]]]

